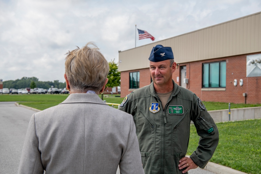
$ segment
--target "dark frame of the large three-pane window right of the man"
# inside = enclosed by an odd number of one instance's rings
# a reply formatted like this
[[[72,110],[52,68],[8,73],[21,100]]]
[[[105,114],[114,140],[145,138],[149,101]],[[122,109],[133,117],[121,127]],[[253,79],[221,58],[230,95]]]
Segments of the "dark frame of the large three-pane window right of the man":
[[[226,80],[225,80],[225,86],[222,87],[220,86],[221,85],[221,63],[222,62],[225,62],[225,65],[226,65],[226,73],[225,73],[225,78],[227,79],[227,62],[226,61],[217,61],[217,62],[207,62],[207,63],[202,63],[202,81],[201,81],[201,88],[226,88]],[[211,84],[210,84],[210,72],[211,72],[211,69],[210,69],[210,64],[213,64],[213,63],[218,63],[218,87],[210,87]],[[208,69],[208,87],[204,87],[204,65],[208,64],[209,65],[209,69]]]

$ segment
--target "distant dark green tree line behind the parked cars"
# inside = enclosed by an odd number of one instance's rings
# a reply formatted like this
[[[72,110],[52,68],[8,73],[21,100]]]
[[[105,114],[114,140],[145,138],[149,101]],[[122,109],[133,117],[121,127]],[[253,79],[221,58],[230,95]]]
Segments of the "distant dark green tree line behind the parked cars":
[[[32,84],[35,84],[35,88],[43,88],[48,89],[51,88],[51,86],[54,86],[54,88],[65,88],[66,83],[65,82],[59,82],[59,80],[51,81],[39,81],[36,77],[22,77],[21,79],[16,80],[7,80],[3,81],[3,88],[15,88],[15,89],[24,89],[24,88],[30,88]]]

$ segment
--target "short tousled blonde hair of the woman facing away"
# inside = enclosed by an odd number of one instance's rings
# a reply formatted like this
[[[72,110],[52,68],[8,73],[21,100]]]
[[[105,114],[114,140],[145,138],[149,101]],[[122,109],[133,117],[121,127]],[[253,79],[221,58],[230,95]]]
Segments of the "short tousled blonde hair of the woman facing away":
[[[90,47],[91,45],[93,47]],[[100,92],[108,73],[109,64],[93,42],[87,43],[81,49],[77,46],[77,49],[67,53],[65,74],[71,91]]]

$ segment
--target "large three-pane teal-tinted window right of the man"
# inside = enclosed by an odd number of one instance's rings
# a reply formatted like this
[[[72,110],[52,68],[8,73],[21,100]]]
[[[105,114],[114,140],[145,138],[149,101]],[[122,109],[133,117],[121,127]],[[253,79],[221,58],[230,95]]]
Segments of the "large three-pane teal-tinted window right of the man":
[[[226,87],[226,62],[203,64],[203,88]]]

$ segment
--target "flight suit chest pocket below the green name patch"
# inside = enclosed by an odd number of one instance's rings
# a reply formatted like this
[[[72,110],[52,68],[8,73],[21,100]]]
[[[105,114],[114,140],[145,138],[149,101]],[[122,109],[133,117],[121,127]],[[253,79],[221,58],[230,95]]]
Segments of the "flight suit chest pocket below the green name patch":
[[[189,109],[186,109],[184,114],[180,115],[171,126],[171,155],[186,154],[187,152],[191,122],[189,113]]]

